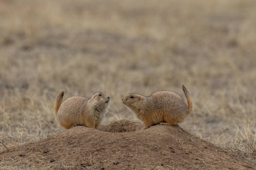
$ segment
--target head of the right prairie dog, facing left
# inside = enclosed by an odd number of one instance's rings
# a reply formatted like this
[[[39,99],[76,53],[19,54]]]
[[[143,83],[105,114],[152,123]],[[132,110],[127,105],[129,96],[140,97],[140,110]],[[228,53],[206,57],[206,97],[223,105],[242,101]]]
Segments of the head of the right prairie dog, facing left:
[[[141,113],[144,108],[146,97],[138,94],[128,94],[123,97],[122,102],[135,113]]]

